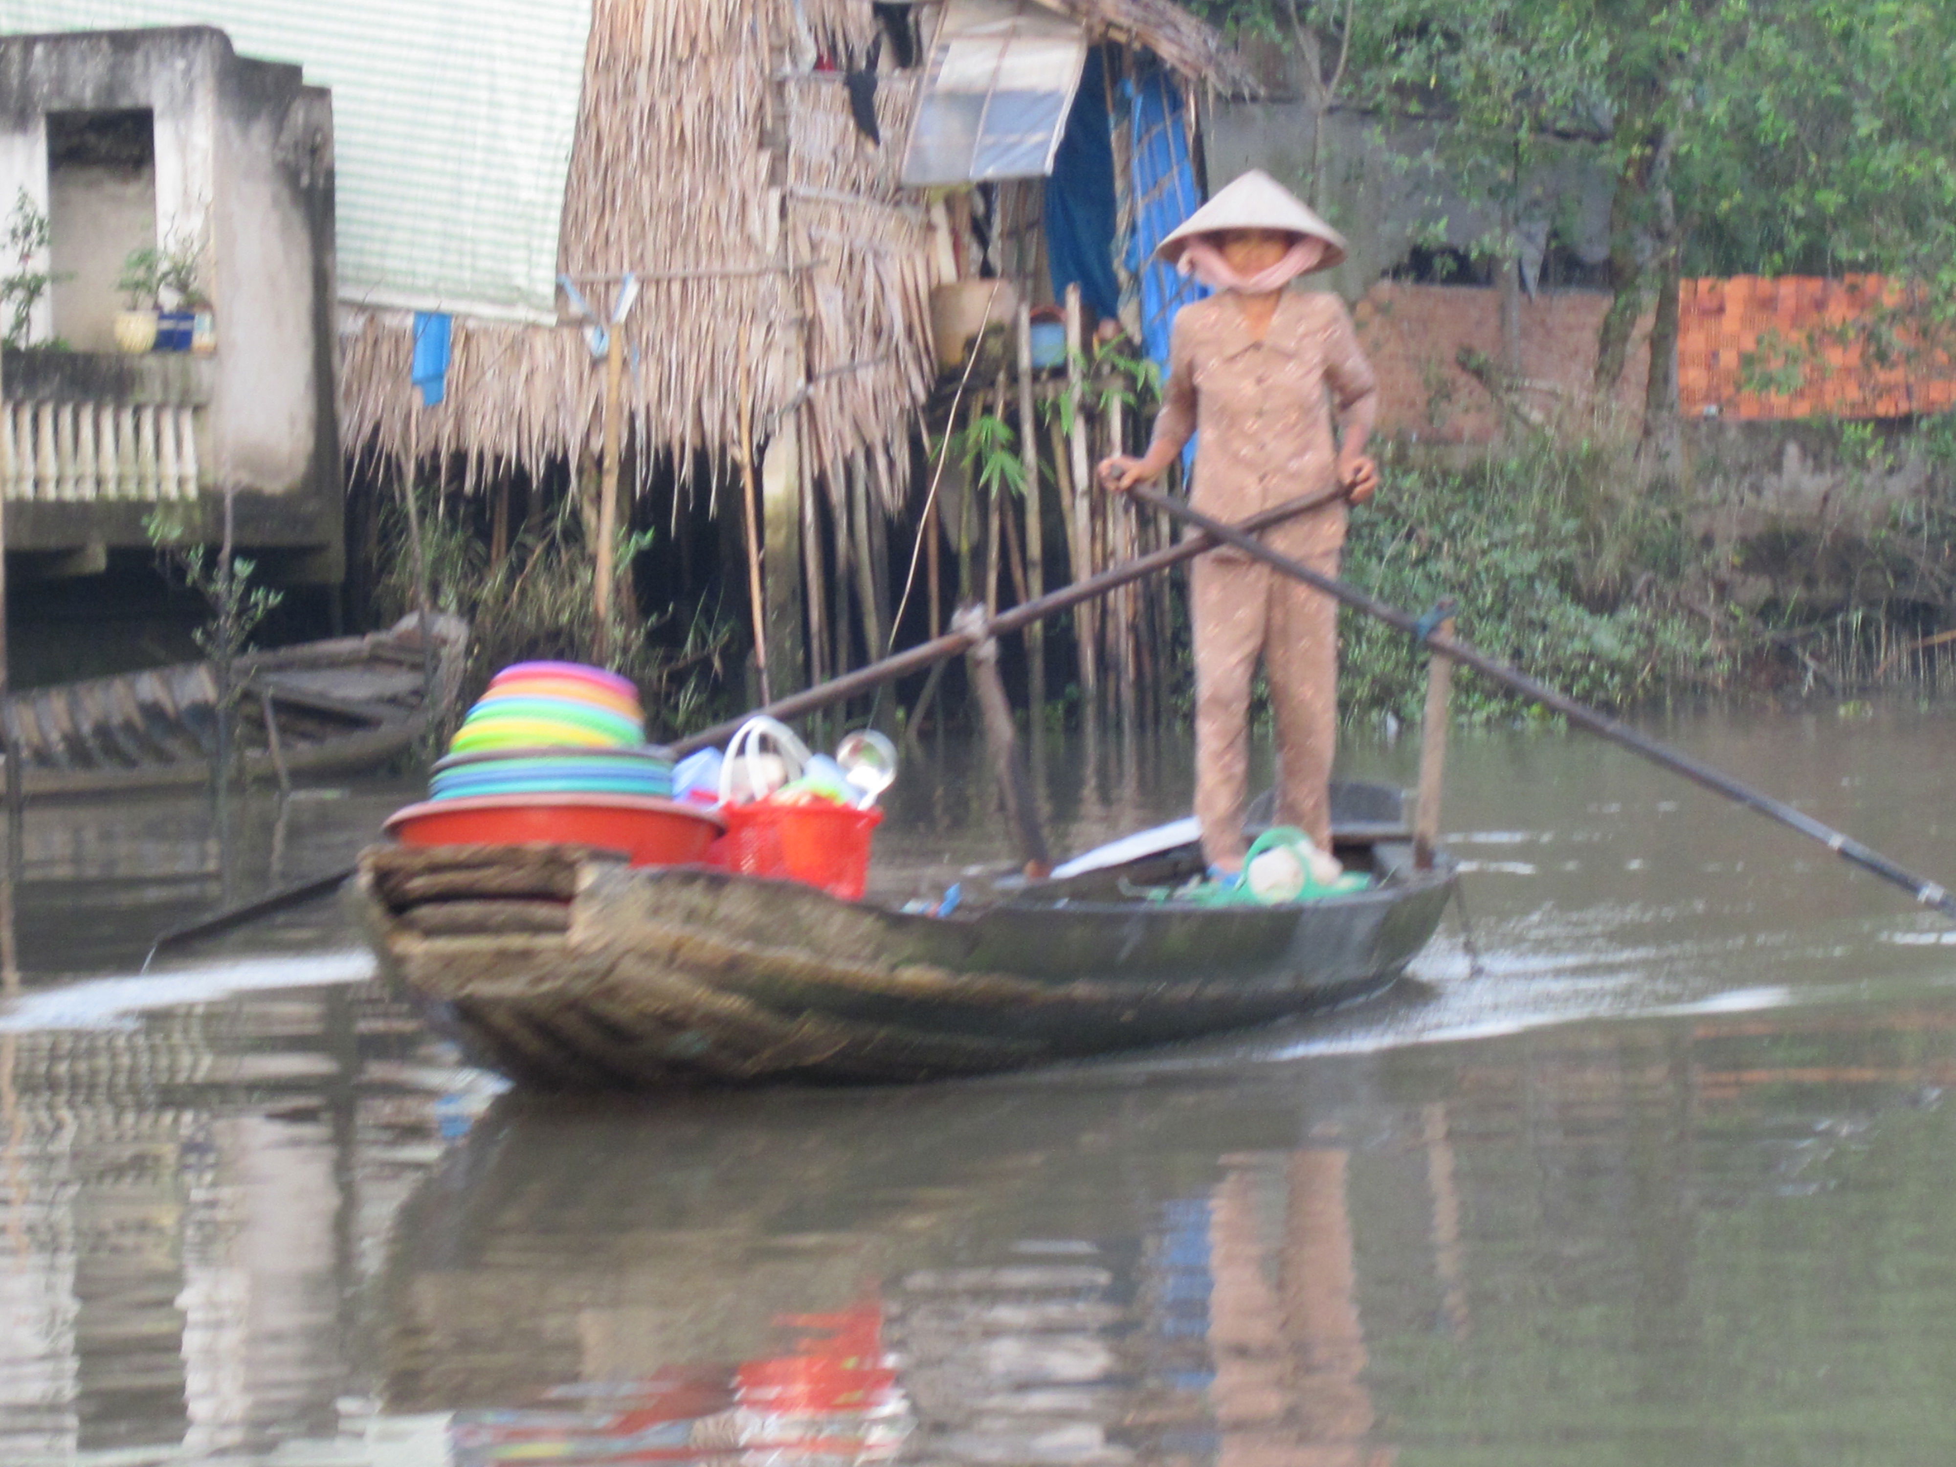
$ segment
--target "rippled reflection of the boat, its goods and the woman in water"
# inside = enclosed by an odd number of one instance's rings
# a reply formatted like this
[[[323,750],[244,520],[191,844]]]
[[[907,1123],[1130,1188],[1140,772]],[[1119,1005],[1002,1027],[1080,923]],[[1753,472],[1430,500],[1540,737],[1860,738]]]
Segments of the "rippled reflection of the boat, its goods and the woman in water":
[[[859,1093],[853,1127],[827,1097],[720,1127],[505,1097],[397,1222],[385,1408],[454,1410],[464,1467],[1393,1461],[1346,1152],[1228,1156],[1164,1201],[1046,1166],[1105,1121],[1052,1101],[966,1093],[945,1148],[945,1097]]]

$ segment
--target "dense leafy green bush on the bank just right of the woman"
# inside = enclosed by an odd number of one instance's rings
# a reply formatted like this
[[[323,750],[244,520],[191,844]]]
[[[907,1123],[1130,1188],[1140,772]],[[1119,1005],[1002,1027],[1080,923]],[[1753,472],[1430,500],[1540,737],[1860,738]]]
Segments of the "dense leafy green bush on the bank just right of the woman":
[[[1710,683],[1725,653],[1678,604],[1698,579],[1682,505],[1635,483],[1616,444],[1547,436],[1467,469],[1383,464],[1385,487],[1352,516],[1344,573],[1375,597],[1426,610],[1459,600],[1459,636],[1604,708]],[[1344,618],[1348,718],[1420,716],[1426,653],[1400,632]],[[1530,704],[1471,675],[1455,708],[1475,722]]]

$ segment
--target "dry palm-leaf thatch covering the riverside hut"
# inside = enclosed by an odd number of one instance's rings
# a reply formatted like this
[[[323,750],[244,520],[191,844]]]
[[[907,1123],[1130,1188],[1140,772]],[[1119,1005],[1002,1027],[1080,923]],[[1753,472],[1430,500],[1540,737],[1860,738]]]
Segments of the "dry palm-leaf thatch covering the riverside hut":
[[[1215,35],[1166,0],[1043,2],[1191,80],[1228,80]],[[726,464],[745,397],[757,442],[802,411],[810,473],[833,483],[857,460],[896,489],[933,372],[927,225],[896,184],[915,74],[884,74],[874,147],[839,72],[771,65],[782,49],[847,65],[874,37],[868,0],[595,0],[559,264],[599,305],[616,289],[606,278],[644,282],[624,333],[634,442]],[[456,319],[448,399],[432,409],[409,383],[411,354],[409,317],[348,311],[354,450],[460,454],[493,473],[599,444],[604,374],[569,319]]]

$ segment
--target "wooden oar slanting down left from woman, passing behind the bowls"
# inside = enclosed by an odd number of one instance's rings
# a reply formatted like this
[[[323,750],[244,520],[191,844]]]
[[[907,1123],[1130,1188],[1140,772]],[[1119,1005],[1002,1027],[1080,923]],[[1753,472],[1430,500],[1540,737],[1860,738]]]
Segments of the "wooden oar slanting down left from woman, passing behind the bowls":
[[[1242,530],[1267,530],[1271,524],[1281,524],[1283,520],[1305,514],[1312,509],[1322,509],[1334,499],[1344,499],[1344,489],[1330,489],[1320,495],[1299,495],[1283,505],[1264,511],[1262,514],[1252,514],[1242,522]],[[816,708],[827,708],[831,702],[841,702],[853,698],[868,689],[882,683],[890,683],[908,673],[921,671],[931,663],[943,661],[947,657],[956,657],[970,651],[978,642],[990,636],[1000,636],[1001,632],[1017,632],[1023,626],[1054,616],[1062,610],[1072,610],[1082,600],[1093,597],[1103,597],[1109,591],[1127,585],[1129,581],[1138,581],[1144,575],[1154,575],[1156,571],[1178,565],[1185,559],[1201,556],[1211,550],[1217,542],[1207,534],[1189,536],[1181,544],[1156,550],[1150,556],[1136,556],[1134,559],[1123,561],[1119,565],[1109,565],[1099,575],[1088,577],[1086,581],[1074,581],[1072,585],[1060,587],[1058,591],[1039,597],[1037,600],[1027,600],[1021,606],[1000,612],[990,618],[976,632],[949,632],[941,638],[925,642],[921,645],[900,651],[894,657],[884,657],[868,667],[859,667],[853,673],[843,673],[827,683],[820,683],[806,692],[794,692],[786,698],[775,698],[765,708],[757,708],[757,714],[767,714],[769,718],[798,718],[800,714],[810,714]],[[726,724],[716,724],[714,728],[692,734],[673,745],[675,755],[687,755],[694,749],[704,749],[710,743],[726,743],[734,737],[734,732],[745,724],[755,714],[741,714]],[[149,949],[149,956],[143,958],[143,968],[162,953],[166,947],[176,947],[178,943],[188,943],[194,937],[213,937],[221,931],[229,931],[241,923],[252,921],[254,917],[270,915],[282,908],[295,906],[299,902],[311,902],[327,892],[334,890],[340,882],[354,874],[354,867],[340,867],[338,870],[329,870],[323,876],[313,876],[309,880],[286,886],[284,890],[272,892],[268,896],[243,902],[235,908],[225,908],[223,911],[213,911],[209,917],[186,923],[182,927],[172,927],[162,933],[156,943]]]

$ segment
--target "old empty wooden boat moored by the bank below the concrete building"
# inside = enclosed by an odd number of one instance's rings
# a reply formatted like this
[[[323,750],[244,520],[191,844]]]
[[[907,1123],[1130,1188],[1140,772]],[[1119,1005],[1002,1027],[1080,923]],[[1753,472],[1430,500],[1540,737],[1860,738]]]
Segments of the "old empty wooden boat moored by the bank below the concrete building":
[[[246,778],[378,769],[454,698],[467,624],[432,616],[434,704],[424,698],[421,618],[385,632],[239,657],[239,749]],[[217,737],[209,663],[151,667],[20,692],[0,706],[27,796],[201,784]]]

